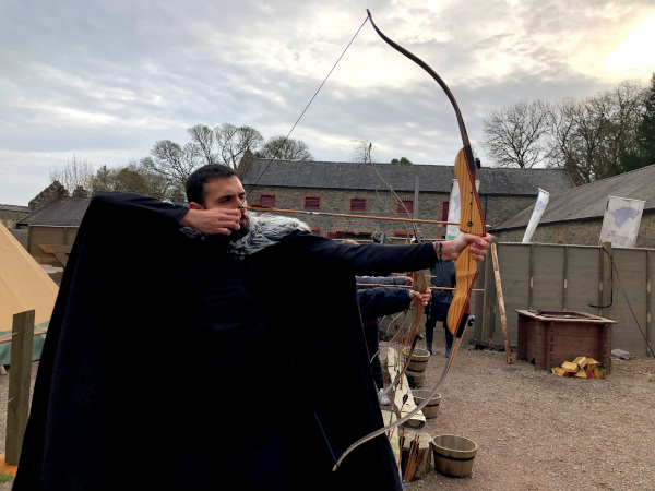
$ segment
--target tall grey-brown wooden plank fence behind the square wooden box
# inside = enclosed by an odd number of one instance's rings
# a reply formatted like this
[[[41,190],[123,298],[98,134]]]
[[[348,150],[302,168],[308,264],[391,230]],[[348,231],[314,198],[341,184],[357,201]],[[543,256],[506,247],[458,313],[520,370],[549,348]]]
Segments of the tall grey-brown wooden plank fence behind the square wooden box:
[[[655,249],[612,250],[608,243],[604,247],[498,243],[512,345],[516,345],[517,309],[580,311],[617,321],[612,326],[612,348],[634,356],[651,354],[645,339],[655,348],[655,295],[651,287]],[[483,268],[478,286],[485,288],[485,294],[483,301],[475,302],[477,321],[468,336],[502,345],[492,261],[485,261]]]

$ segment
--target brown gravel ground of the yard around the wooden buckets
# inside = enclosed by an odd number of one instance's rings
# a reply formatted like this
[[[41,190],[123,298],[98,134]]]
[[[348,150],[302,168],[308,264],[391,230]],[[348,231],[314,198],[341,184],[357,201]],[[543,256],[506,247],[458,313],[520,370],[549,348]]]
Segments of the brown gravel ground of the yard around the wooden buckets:
[[[655,489],[655,359],[612,358],[605,380],[562,379],[468,348],[460,349],[426,430],[476,442],[473,476],[431,472],[408,490]],[[442,354],[437,348],[428,363],[426,388],[441,374]],[[2,452],[8,383],[0,378]]]

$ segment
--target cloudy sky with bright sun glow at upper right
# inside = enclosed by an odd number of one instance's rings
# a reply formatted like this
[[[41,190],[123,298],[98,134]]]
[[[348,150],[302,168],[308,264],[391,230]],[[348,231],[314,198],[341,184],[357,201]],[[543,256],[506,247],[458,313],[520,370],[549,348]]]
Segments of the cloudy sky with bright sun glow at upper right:
[[[584,97],[655,71],[653,0],[0,0],[0,203],[73,157],[124,166],[229,122],[287,134],[366,19],[430,64],[468,134],[524,98]],[[291,137],[318,160],[451,165],[441,88],[366,23]],[[485,161],[483,161],[485,165]]]

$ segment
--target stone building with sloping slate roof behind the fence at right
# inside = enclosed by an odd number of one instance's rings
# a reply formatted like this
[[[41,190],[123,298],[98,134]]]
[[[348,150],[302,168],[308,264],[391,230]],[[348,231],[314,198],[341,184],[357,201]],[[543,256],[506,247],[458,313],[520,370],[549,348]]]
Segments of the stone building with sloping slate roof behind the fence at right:
[[[645,201],[638,248],[655,248],[655,165],[550,195],[532,242],[598,246],[609,196]],[[534,201],[495,229],[501,242],[521,242]]]

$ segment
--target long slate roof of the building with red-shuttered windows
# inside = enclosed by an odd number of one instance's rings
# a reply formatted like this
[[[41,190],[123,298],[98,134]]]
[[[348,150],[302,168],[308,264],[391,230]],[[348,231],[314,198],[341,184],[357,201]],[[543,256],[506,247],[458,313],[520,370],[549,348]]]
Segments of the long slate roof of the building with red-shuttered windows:
[[[369,164],[272,160],[266,167],[267,164],[267,159],[252,159],[241,176],[243,184],[253,185],[257,182],[266,187],[371,191],[388,189]],[[455,178],[453,166],[376,164],[376,169],[395,191],[403,192],[414,192],[415,177],[418,176],[419,191],[448,194]],[[560,169],[488,167],[479,169],[476,178],[480,181],[480,194],[536,196],[537,188],[559,192],[573,185]]]

